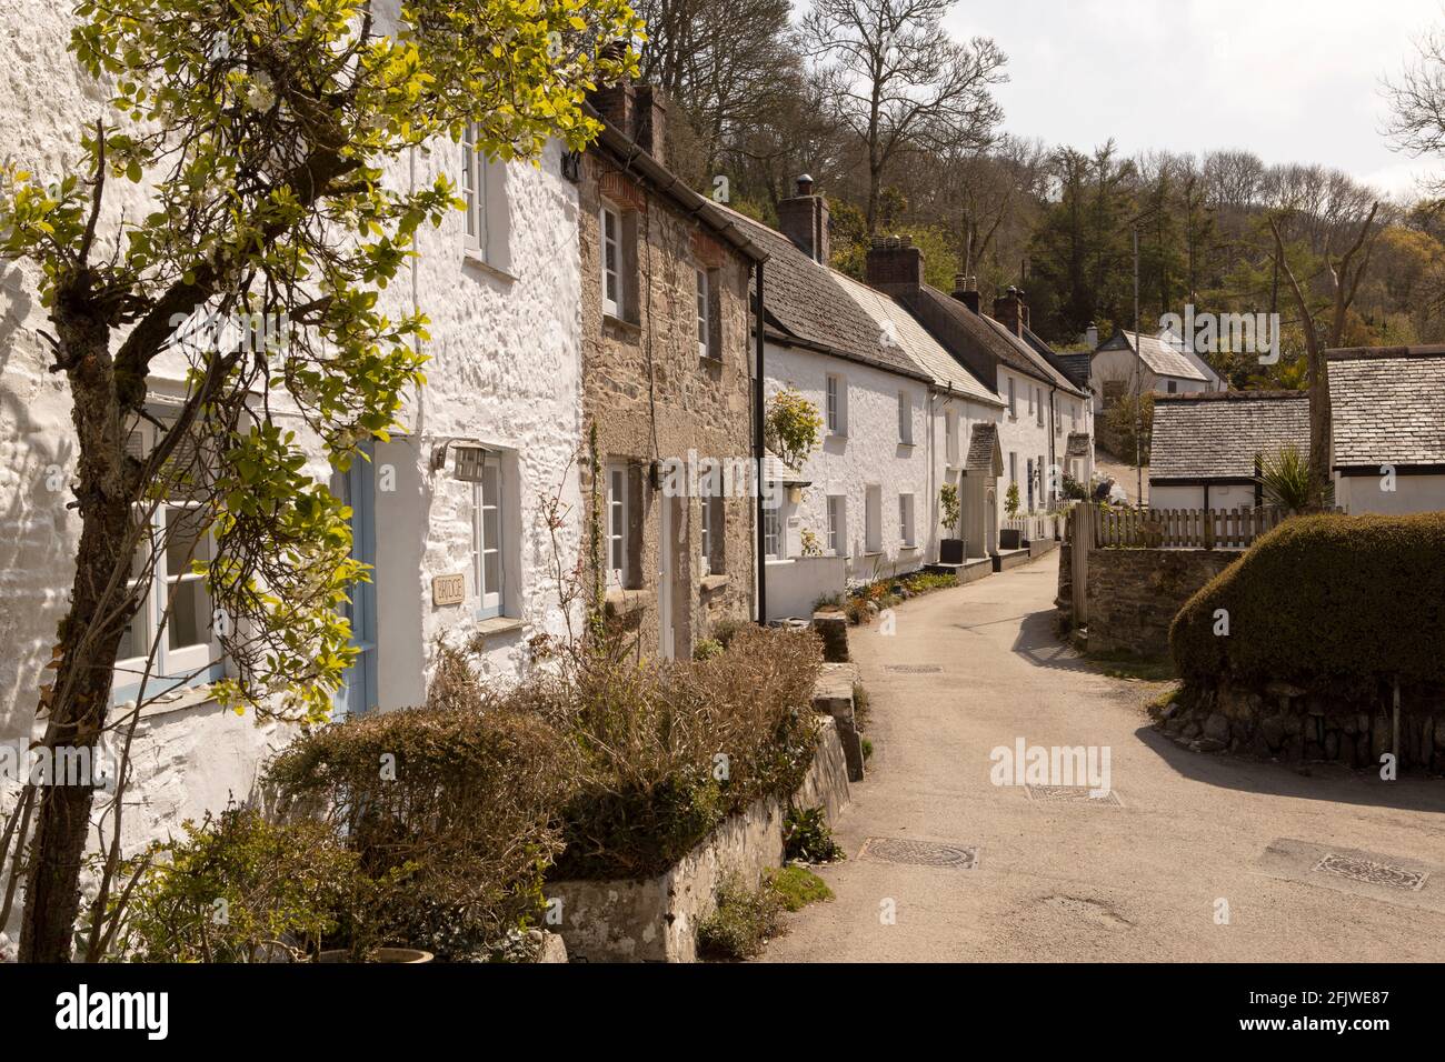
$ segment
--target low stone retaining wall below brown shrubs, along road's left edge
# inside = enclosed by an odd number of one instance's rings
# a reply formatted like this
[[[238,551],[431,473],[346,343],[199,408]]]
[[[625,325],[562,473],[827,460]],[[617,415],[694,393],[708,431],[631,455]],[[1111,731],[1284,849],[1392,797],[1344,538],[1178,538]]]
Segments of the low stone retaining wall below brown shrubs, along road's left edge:
[[[848,767],[837,725],[822,720],[818,753],[793,796],[799,808],[827,809],[829,821],[848,803]],[[562,902],[566,952],[579,962],[694,962],[696,928],[717,907],[717,890],[738,876],[757,886],[783,863],[779,800],[757,800],[720,824],[657,877],[633,881],[556,881],[548,899]]]

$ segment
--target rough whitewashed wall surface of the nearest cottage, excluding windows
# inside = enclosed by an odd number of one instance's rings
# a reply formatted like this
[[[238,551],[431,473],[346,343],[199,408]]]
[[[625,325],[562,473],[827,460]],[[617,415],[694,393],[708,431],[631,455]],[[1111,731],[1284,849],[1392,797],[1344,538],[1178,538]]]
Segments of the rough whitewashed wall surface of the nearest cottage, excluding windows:
[[[61,179],[79,157],[75,143],[107,98],[65,51],[72,25],[64,7],[40,0],[0,0],[0,157],[42,179]],[[399,188],[455,173],[460,149],[438,144],[392,168]],[[415,166],[415,169],[413,169]],[[526,639],[561,633],[555,584],[546,575],[552,548],[542,500],[561,491],[571,519],[562,535],[564,568],[575,559],[581,497],[575,455],[581,445],[581,303],[577,195],[561,176],[551,144],[538,169],[506,168],[506,272],[464,263],[462,218],[425,231],[422,260],[403,270],[383,301],[431,316],[429,384],[403,418],[407,435],[380,446],[377,467],[392,465],[394,491],[377,494],[377,591],[383,707],[413,704],[425,688],[434,640],[458,642],[475,618],[471,574],[471,485],[429,470],[432,446],[447,436],[481,439],[506,451],[510,510],[504,514],[507,608],[516,630],[488,637],[481,668],[510,678],[526,662]],[[101,220],[101,253],[121,208],[146,212],[144,186],[110,182]],[[75,464],[65,381],[46,371],[46,327],[35,270],[0,264],[0,741],[26,743],[35,718],[40,666],[49,659],[72,578],[79,522],[65,509]],[[156,379],[156,387],[165,380]],[[448,462],[449,464],[449,462]],[[311,468],[328,475],[319,458]],[[434,575],[465,572],[462,605],[432,604]],[[497,624],[493,624],[497,626]],[[136,783],[127,800],[131,841],[173,831],[228,799],[246,798],[257,767],[286,731],[223,712],[204,691],[152,709],[140,728]],[[0,812],[16,786],[0,783]],[[13,926],[12,926],[13,929]]]

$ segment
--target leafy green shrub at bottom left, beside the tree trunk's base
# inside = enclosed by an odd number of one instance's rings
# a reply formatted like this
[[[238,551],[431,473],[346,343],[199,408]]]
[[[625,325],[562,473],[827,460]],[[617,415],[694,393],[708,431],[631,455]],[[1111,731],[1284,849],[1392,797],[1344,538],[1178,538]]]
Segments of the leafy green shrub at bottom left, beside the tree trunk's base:
[[[357,892],[358,857],[319,822],[228,808],[158,841],[123,868],[118,957],[137,962],[273,962],[315,954]],[[113,902],[120,909],[120,900]]]

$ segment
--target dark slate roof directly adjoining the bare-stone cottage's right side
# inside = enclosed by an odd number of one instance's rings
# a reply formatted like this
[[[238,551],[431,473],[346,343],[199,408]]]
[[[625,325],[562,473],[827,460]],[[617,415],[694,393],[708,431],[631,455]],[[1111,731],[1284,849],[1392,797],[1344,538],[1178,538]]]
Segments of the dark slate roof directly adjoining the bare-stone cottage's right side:
[[[881,342],[883,329],[844,289],[841,273],[814,262],[782,233],[728,207],[718,208],[727,211],[754,247],[767,253],[763,309],[783,341],[802,340],[876,368],[932,379],[902,348]]]

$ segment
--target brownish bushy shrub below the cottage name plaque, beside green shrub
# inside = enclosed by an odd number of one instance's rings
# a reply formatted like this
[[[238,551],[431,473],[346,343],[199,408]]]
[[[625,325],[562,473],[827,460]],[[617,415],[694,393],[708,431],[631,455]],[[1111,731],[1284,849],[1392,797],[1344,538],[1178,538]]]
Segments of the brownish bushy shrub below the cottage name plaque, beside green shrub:
[[[470,689],[465,673],[451,679],[448,701],[465,707],[353,717],[302,735],[267,770],[280,809],[331,824],[370,880],[405,877],[406,894],[368,915],[380,936],[442,958],[539,915],[575,774],[545,720],[496,704],[475,676]]]

